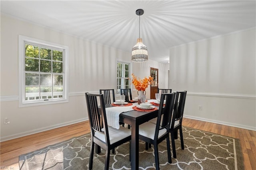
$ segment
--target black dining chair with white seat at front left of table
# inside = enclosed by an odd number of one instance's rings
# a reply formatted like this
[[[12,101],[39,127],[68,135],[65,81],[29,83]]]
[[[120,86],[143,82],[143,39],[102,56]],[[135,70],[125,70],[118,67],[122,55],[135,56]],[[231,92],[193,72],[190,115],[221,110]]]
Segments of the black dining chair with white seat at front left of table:
[[[85,96],[92,137],[89,170],[92,169],[95,144],[99,145],[101,148],[106,150],[105,170],[108,170],[110,150],[130,141],[131,131],[130,129],[127,129],[122,126],[120,126],[120,129],[115,129],[113,127],[108,126],[103,94],[85,93]],[[97,100],[100,101],[101,109],[98,108]],[[100,115],[102,115],[103,127],[101,126]]]

